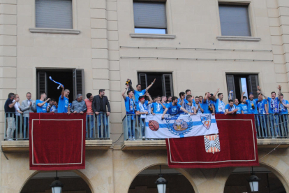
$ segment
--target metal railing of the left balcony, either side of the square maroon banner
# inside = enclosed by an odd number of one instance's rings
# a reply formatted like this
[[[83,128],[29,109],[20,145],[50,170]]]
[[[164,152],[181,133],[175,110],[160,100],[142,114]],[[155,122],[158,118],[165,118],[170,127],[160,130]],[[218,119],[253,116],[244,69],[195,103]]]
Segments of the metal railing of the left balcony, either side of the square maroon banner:
[[[4,140],[28,140],[29,117],[19,113],[5,113]],[[106,113],[87,113],[86,139],[109,139],[110,117]]]

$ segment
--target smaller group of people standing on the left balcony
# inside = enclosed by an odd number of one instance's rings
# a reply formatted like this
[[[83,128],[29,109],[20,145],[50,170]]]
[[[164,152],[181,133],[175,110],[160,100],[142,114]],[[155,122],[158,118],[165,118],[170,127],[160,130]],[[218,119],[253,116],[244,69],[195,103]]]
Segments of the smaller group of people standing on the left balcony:
[[[82,94],[77,94],[77,99],[69,103],[68,96],[70,91],[61,85],[61,95],[59,100],[47,98],[46,93],[40,94],[40,99],[31,99],[31,93],[27,92],[26,98],[20,104],[18,94],[9,93],[4,105],[6,113],[6,139],[13,141],[13,138],[27,138],[29,129],[29,113],[87,113],[87,137],[94,138],[95,117],[98,118],[98,136],[107,136],[106,129],[101,129],[101,122],[104,127],[108,127],[108,116],[110,115],[110,102],[105,96],[105,90],[99,90],[98,95],[93,96],[87,93],[87,99],[83,100]],[[106,116],[101,115],[105,113]],[[17,125],[17,127],[16,127]],[[18,136],[15,129],[18,129]],[[20,129],[22,136],[20,136]]]

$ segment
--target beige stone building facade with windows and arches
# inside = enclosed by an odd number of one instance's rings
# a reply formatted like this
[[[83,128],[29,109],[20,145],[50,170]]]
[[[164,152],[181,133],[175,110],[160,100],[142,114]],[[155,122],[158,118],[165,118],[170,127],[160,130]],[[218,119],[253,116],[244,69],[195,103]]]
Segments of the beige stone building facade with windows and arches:
[[[181,186],[188,192],[249,192],[246,183],[232,180],[249,171],[172,170],[165,141],[125,141],[121,92],[127,78],[143,88],[156,78],[153,95],[220,89],[228,101],[229,90],[240,99],[242,89],[257,94],[260,85],[269,96],[281,85],[289,99],[288,0],[0,0],[0,44],[3,193],[50,188],[39,182],[52,181],[52,173],[29,171],[27,141],[4,141],[3,111],[9,92],[20,101],[27,92],[34,100],[40,92],[58,99],[49,76],[63,81],[71,100],[105,89],[111,106],[110,140],[87,141],[86,169],[63,174],[71,187],[64,192],[156,192],[149,179],[158,178],[160,164],[172,178],[170,192],[184,191]],[[260,175],[275,184],[260,183],[264,192],[289,192],[288,146],[286,138],[258,139]],[[82,179],[76,180],[81,190],[72,179]]]

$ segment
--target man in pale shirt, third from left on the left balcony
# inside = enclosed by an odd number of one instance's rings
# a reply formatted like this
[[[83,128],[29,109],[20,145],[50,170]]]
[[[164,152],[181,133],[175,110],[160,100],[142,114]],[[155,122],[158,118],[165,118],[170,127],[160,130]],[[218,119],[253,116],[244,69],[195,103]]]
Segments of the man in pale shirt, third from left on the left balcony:
[[[36,113],[36,103],[31,99],[31,93],[27,92],[26,100],[23,100],[21,103],[21,110],[23,112],[23,122],[24,122],[24,132],[23,137],[27,138],[27,131],[29,129],[29,113]]]

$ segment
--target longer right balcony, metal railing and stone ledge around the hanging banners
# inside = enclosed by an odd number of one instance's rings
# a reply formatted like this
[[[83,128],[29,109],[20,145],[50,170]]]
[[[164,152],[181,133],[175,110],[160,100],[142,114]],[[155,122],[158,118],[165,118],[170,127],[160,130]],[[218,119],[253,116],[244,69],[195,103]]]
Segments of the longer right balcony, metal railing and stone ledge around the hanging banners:
[[[129,124],[128,120],[132,120]],[[164,139],[147,139],[142,136],[144,122],[139,115],[126,115],[122,120],[124,143],[121,150],[165,150]],[[258,148],[289,148],[288,115],[255,115]],[[130,136],[128,136],[130,135]],[[135,136],[135,140],[133,139]]]

